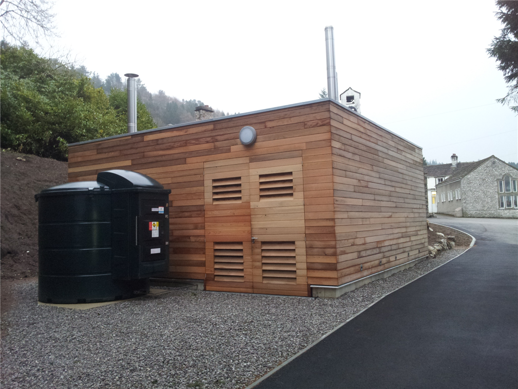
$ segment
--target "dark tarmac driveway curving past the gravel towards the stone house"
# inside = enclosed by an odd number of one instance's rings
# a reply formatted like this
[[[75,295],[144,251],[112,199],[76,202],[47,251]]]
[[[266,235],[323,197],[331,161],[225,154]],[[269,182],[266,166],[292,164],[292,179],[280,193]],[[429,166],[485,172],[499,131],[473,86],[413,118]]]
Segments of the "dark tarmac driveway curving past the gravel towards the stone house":
[[[518,387],[518,220],[441,216],[476,245],[255,388]]]

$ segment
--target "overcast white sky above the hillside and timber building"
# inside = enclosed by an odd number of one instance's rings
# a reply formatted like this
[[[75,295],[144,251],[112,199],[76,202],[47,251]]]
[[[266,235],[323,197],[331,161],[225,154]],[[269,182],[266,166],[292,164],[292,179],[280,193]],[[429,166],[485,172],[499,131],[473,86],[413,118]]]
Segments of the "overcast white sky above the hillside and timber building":
[[[102,78],[137,73],[150,92],[233,114],[318,99],[333,25],[338,89],[362,93],[364,116],[427,160],[518,162],[518,119],[495,103],[507,89],[485,51],[495,11],[492,0],[57,0],[55,43]]]

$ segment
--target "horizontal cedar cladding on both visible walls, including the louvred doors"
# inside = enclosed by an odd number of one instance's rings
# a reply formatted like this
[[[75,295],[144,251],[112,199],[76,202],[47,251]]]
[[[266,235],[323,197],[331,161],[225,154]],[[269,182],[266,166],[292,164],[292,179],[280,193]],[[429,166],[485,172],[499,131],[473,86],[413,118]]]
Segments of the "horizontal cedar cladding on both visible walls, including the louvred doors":
[[[310,296],[426,255],[421,149],[328,99],[70,145],[68,166],[171,189],[169,277],[207,290]]]

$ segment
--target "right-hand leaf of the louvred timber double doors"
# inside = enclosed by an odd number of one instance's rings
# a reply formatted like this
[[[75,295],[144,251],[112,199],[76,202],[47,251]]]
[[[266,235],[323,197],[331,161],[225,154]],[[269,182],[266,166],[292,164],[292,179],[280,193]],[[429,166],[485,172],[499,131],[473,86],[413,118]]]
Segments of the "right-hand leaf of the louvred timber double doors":
[[[254,293],[308,296],[301,158],[250,163],[250,207]]]

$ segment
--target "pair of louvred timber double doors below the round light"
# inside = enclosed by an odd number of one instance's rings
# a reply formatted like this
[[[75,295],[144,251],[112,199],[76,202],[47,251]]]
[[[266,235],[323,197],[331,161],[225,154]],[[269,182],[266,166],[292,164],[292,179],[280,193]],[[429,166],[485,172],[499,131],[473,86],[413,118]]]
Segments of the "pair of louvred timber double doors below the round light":
[[[236,160],[205,164],[206,289],[308,296],[301,158]]]

